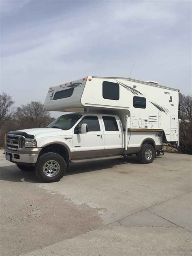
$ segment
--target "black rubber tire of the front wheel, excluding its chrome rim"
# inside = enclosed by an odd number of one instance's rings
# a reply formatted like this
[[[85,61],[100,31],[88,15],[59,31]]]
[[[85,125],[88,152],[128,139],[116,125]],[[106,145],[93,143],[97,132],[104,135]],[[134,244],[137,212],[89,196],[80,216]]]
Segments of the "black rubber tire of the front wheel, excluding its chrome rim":
[[[53,160],[53,161],[55,160],[56,162],[58,162],[59,167],[60,167],[57,175],[55,175],[53,177],[48,177],[43,172],[43,166],[49,160]],[[60,179],[64,176],[64,174],[66,172],[66,167],[67,167],[66,162],[62,156],[60,156],[59,154],[54,153],[54,152],[48,152],[38,158],[36,166],[35,166],[35,174],[41,182],[45,182],[45,183],[46,182],[56,182],[56,181],[60,181]]]

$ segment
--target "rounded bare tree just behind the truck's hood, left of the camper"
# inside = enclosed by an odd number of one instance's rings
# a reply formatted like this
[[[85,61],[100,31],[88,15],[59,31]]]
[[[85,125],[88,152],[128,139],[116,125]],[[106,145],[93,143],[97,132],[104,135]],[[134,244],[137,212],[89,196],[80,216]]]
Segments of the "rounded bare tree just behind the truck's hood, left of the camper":
[[[43,104],[37,101],[18,107],[16,118],[20,129],[45,127],[52,121],[50,112],[46,111]]]

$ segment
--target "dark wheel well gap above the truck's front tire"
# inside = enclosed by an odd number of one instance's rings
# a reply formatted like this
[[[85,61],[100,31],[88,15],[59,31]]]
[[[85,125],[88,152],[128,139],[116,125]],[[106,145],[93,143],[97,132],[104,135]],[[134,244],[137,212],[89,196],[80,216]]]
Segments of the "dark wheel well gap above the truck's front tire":
[[[63,145],[60,145],[60,144],[50,144],[50,145],[47,145],[46,147],[43,147],[43,149],[41,150],[39,156],[41,156],[41,155],[43,155],[43,154],[45,154],[47,152],[57,153],[57,154],[59,154],[60,156],[62,156],[64,158],[66,163],[69,162],[68,150]]]

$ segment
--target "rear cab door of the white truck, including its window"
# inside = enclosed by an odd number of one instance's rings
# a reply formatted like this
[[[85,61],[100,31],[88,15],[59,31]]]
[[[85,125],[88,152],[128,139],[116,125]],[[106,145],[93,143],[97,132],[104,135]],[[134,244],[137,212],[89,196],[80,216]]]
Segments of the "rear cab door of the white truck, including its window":
[[[124,151],[124,132],[117,116],[100,115],[104,130],[104,155],[122,154]]]

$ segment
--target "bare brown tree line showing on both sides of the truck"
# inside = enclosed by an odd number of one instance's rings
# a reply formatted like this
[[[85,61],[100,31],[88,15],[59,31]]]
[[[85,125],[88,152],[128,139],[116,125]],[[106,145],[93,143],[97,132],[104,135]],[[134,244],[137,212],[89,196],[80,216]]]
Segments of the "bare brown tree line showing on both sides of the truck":
[[[4,134],[10,130],[28,128],[41,128],[54,120],[50,112],[46,111],[41,102],[31,101],[21,107],[14,107],[11,96],[0,94],[0,147],[4,145]],[[179,105],[180,147],[169,143],[179,153],[192,154],[192,96],[184,95],[183,102]]]

